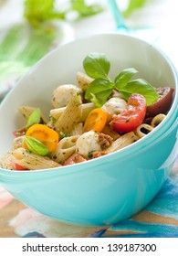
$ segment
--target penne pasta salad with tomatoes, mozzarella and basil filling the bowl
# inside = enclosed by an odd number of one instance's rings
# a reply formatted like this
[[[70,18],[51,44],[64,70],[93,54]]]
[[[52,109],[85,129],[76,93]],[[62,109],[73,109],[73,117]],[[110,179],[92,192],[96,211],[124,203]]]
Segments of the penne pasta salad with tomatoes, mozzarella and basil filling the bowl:
[[[123,69],[110,80],[104,53],[90,53],[83,68],[76,84],[53,91],[48,118],[39,108],[18,108],[26,125],[14,131],[1,168],[39,170],[108,155],[151,133],[171,108],[173,88],[133,80],[136,69]]]

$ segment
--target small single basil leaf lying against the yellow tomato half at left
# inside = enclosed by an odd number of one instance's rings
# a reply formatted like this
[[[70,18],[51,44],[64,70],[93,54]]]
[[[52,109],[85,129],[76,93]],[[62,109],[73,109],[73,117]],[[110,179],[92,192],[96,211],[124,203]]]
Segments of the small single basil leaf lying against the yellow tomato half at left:
[[[32,153],[43,156],[49,155],[49,150],[47,146],[39,142],[37,139],[26,136],[25,141],[29,151],[31,151]]]

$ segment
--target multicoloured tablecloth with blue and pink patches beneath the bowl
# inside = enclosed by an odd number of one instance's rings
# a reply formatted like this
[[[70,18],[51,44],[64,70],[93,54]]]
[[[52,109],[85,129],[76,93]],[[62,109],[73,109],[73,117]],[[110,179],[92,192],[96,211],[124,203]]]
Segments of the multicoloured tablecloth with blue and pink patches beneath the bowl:
[[[113,226],[83,227],[49,219],[0,187],[0,238],[178,238],[178,158],[159,194],[140,213]]]

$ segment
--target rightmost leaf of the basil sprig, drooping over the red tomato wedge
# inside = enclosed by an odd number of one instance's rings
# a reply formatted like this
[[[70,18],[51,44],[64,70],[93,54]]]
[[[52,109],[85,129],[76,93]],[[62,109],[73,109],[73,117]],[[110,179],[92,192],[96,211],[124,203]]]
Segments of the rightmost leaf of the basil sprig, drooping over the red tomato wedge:
[[[157,91],[154,90],[152,85],[142,79],[131,80],[126,87],[120,89],[120,93],[126,100],[128,100],[131,93],[139,93],[144,96],[147,106],[152,105],[159,98]]]

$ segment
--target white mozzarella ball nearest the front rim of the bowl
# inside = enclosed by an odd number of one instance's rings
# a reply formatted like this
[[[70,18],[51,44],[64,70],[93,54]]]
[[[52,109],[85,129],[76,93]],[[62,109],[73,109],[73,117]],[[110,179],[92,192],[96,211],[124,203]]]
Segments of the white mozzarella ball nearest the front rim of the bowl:
[[[101,151],[99,134],[94,131],[83,133],[77,141],[76,151],[83,157],[88,157],[91,151]]]

